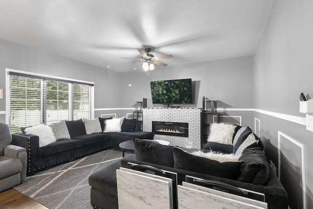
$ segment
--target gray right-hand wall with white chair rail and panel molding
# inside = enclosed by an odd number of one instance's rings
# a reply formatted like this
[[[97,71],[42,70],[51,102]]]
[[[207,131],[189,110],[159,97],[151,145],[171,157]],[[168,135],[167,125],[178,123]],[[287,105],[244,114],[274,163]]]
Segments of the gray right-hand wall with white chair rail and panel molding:
[[[299,112],[301,92],[313,97],[313,1],[275,0],[254,55],[254,108],[267,156],[281,170],[281,182],[290,196],[290,208],[313,208],[313,132],[304,125],[278,119],[277,113],[305,117]],[[278,139],[280,138],[280,143]],[[305,172],[302,173],[304,146]],[[278,147],[280,146],[280,150]],[[280,165],[278,158],[280,156]],[[303,174],[306,186],[302,187]],[[306,190],[303,205],[302,192]]]

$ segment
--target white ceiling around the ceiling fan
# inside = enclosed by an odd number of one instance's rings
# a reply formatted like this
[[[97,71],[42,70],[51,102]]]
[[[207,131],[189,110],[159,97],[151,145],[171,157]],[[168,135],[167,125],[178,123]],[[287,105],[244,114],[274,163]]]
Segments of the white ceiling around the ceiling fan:
[[[152,46],[178,66],[252,55],[273,1],[0,0],[0,39],[119,72]]]

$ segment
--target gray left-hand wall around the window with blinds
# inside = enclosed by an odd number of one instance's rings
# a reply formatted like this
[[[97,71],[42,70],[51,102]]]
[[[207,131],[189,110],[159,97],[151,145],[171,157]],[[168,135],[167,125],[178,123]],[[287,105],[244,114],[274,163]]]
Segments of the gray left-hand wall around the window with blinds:
[[[6,68],[94,82],[95,109],[116,108],[122,104],[121,73],[112,70],[0,40],[0,89],[4,94]],[[5,99],[0,99],[1,111],[5,111]],[[95,117],[102,112],[95,111]],[[5,122],[3,114],[0,121]]]

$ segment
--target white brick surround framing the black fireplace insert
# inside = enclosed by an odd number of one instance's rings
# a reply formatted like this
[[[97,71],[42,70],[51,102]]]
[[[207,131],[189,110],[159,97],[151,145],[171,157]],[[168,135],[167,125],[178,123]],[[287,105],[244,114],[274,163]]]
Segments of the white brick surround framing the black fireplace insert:
[[[188,123],[188,137],[156,134],[154,139],[169,141],[173,146],[201,148],[200,108],[144,108],[143,131],[152,131],[152,121]]]

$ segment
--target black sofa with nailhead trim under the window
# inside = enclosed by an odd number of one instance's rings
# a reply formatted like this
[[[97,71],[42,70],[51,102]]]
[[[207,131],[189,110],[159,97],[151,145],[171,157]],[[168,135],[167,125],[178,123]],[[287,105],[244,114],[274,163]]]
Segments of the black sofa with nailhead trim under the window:
[[[100,123],[101,123],[101,119]],[[82,119],[66,121],[70,139],[59,139],[54,143],[39,147],[39,137],[25,133],[12,133],[11,144],[24,147],[27,151],[27,176],[58,164],[84,157],[102,150],[118,147],[120,142],[132,137],[153,139],[153,132],[141,131],[141,123],[135,122],[132,132],[110,132],[86,134]],[[104,123],[101,123],[102,130]]]

